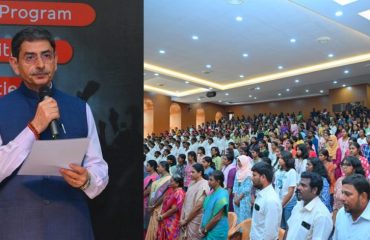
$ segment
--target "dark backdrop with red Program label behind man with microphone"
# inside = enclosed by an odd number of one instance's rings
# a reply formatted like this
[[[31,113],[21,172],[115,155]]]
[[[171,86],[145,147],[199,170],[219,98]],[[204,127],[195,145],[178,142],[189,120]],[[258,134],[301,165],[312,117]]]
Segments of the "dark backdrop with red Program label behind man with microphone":
[[[96,239],[142,238],[142,1],[0,1],[0,96],[20,84],[10,39],[38,25],[57,40],[53,83],[91,106],[110,181],[90,200]],[[30,219],[32,221],[32,219]]]

